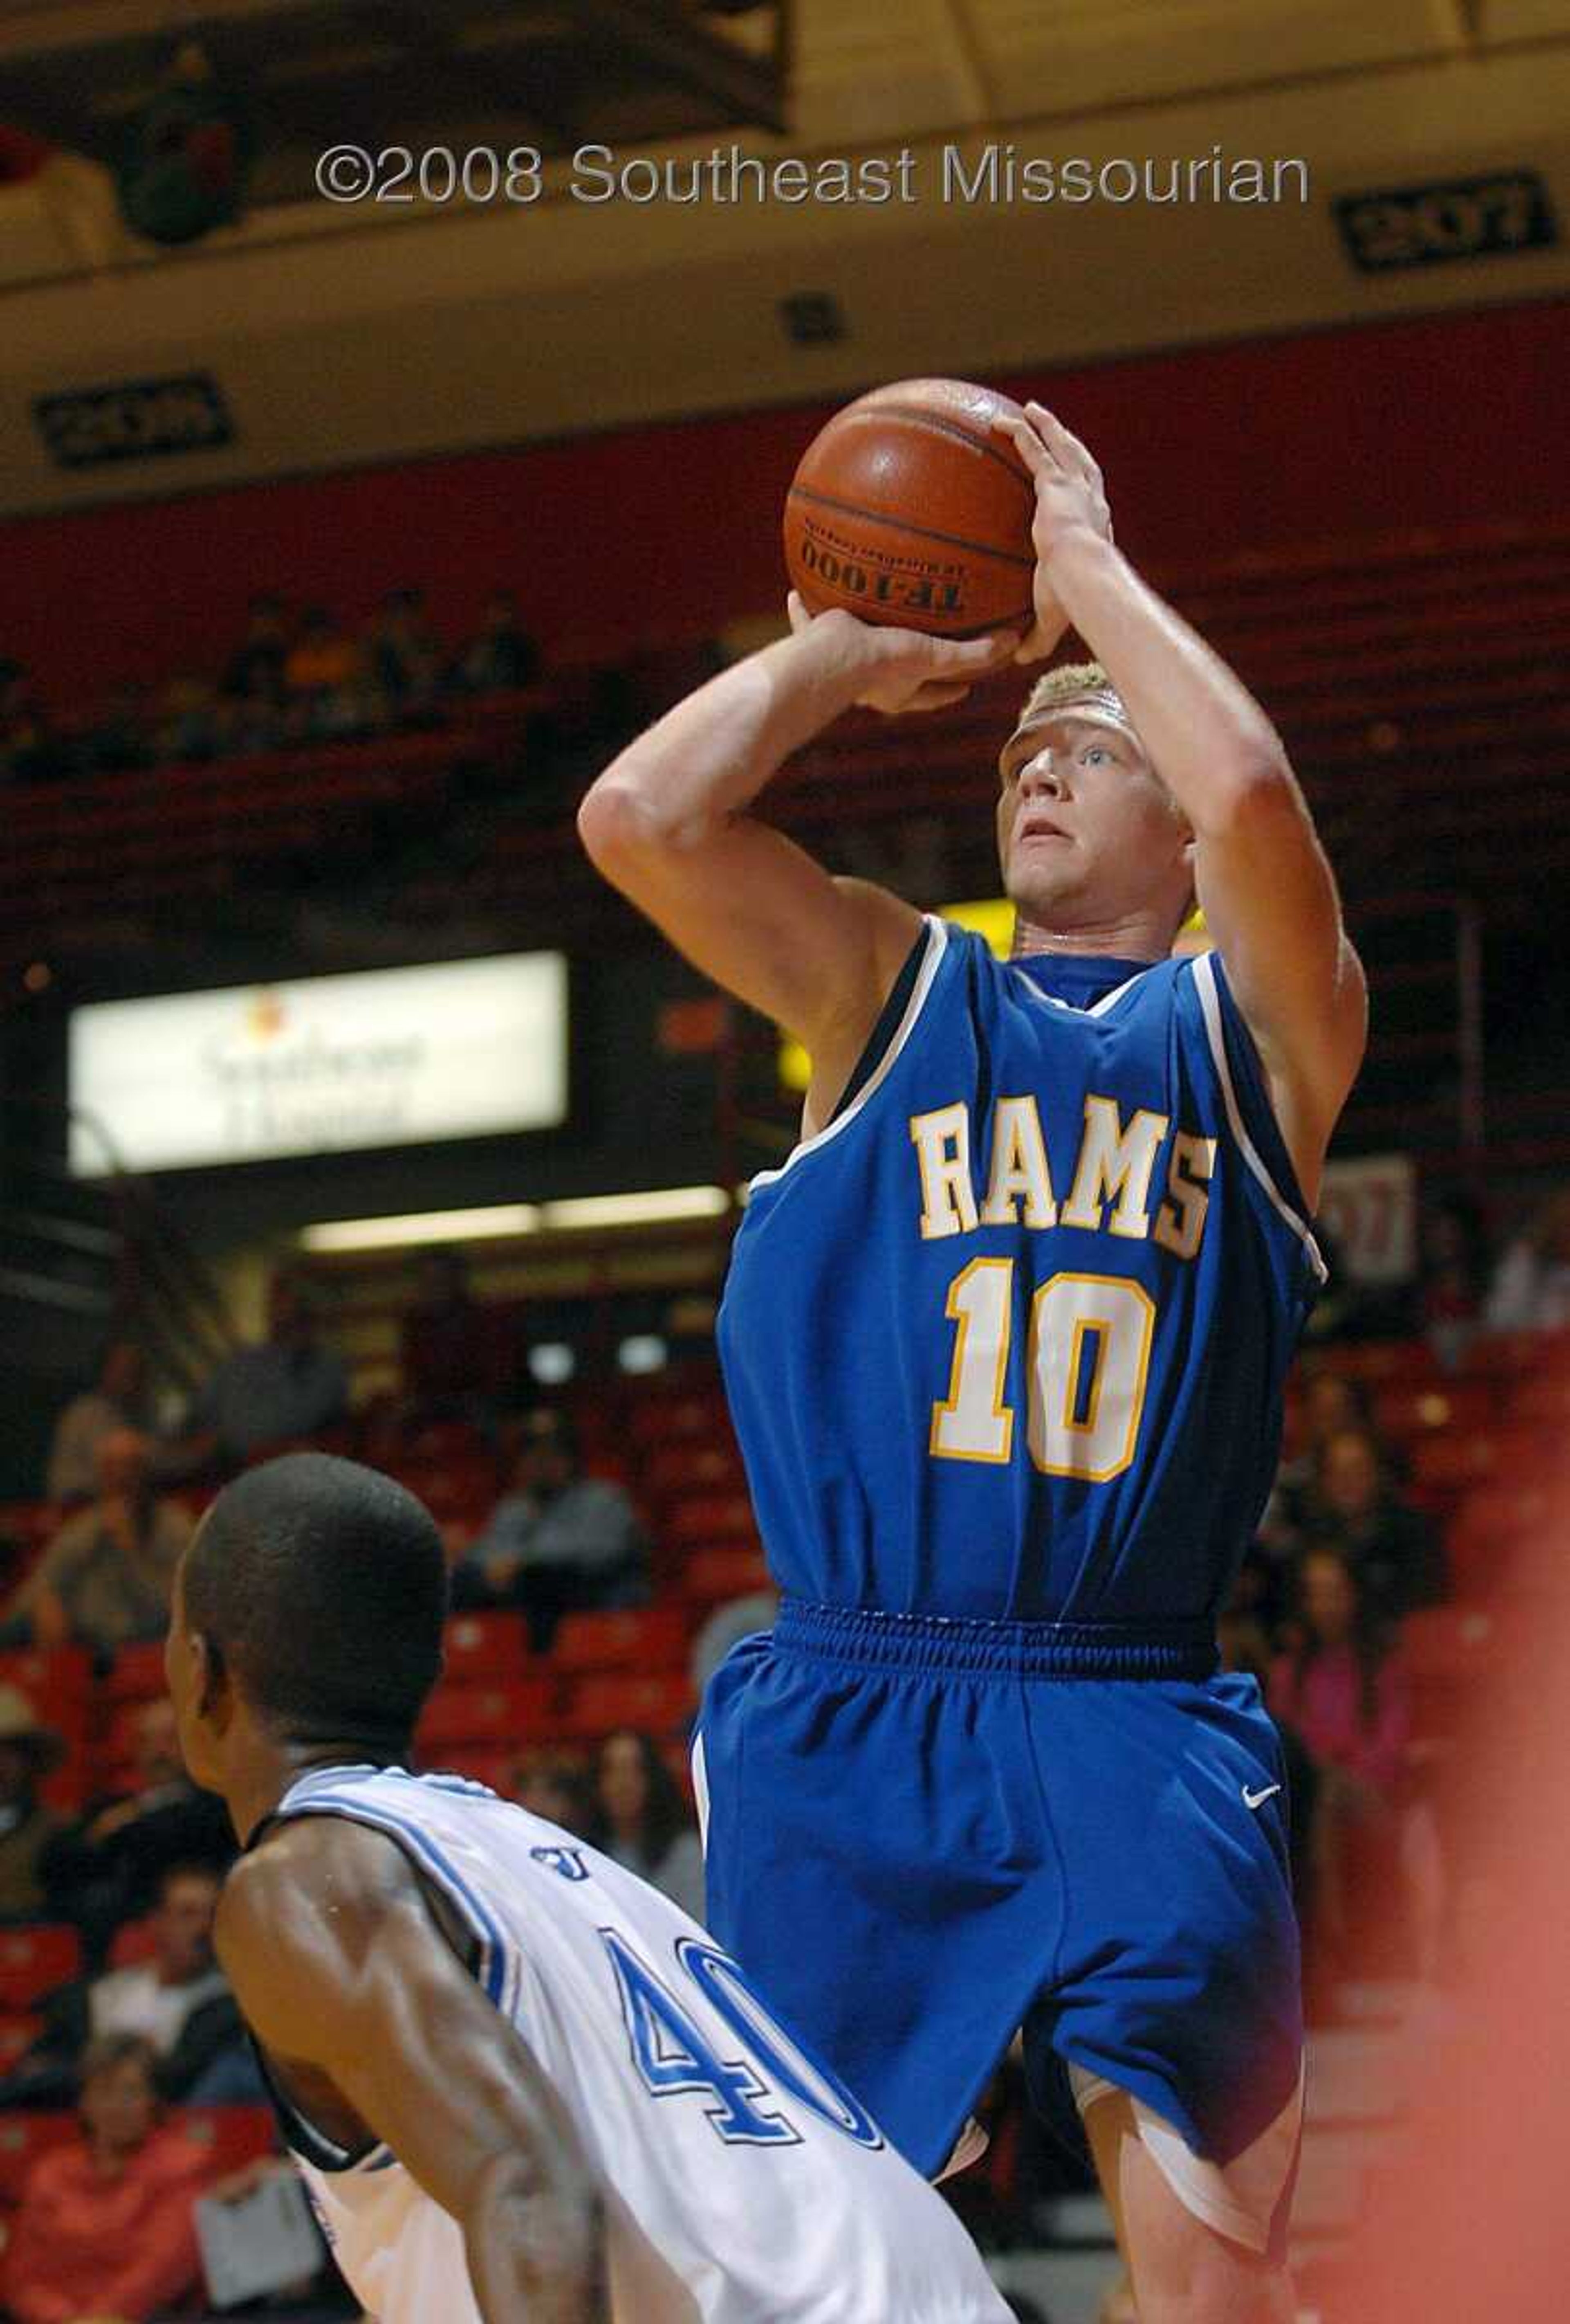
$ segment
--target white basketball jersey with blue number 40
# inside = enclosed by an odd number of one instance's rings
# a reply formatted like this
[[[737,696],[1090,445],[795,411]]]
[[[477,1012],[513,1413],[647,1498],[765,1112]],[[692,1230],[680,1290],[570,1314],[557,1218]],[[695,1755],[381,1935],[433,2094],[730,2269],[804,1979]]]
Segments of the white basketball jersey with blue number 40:
[[[458,1776],[318,1769],[279,1815],[386,1831],[474,1931],[599,2180],[615,2324],[1006,2324],[943,2199],[643,1880]],[[290,2140],[379,2324],[481,2324],[458,2222],[388,2147]]]

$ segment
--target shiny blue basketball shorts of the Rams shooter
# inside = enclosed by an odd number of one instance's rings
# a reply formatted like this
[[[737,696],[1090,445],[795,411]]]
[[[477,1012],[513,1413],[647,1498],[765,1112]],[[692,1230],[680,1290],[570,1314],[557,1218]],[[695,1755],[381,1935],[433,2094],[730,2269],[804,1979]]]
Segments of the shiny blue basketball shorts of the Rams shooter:
[[[917,2171],[1024,2029],[1045,2113],[1066,2071],[1080,2106],[1129,2092],[1189,2157],[1252,2159],[1254,2187],[1268,2150],[1263,2210],[1284,2210],[1287,1776],[1259,1687],[1215,1671],[1203,1627],[787,1599],[713,1673],[699,1759],[708,1927]]]

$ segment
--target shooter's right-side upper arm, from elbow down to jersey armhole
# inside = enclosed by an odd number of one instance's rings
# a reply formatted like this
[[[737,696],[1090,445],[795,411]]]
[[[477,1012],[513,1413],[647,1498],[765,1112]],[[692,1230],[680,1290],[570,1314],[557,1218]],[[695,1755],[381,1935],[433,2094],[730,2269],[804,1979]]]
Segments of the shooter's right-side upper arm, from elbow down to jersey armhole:
[[[1363,1062],[1368,985],[1291,769],[1263,774],[1240,792],[1236,813],[1201,832],[1194,876],[1312,1204]]]

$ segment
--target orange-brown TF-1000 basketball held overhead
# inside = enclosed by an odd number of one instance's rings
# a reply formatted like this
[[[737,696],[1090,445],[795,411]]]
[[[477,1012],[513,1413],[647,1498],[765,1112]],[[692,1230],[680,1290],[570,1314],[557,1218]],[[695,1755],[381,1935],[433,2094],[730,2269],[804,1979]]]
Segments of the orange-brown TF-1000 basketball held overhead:
[[[1031,627],[1036,486],[964,379],[901,379],[836,411],[785,500],[785,567],[808,614],[985,637]]]

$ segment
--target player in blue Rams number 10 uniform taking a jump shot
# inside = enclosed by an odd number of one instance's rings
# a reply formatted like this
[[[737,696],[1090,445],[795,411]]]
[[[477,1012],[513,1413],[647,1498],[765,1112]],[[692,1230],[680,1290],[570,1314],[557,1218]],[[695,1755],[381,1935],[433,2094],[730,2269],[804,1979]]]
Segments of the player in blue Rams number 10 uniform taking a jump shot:
[[[1266,1501],[1366,988],[1280,737],[1040,404],[1034,632],[806,618],[595,783],[599,869],[811,1053],[720,1353],[783,1608],[699,1722],[708,1913],[929,2175],[1015,2029],[1143,2324],[1277,2324],[1301,1999],[1277,1738],[1215,1618]],[[748,813],[852,704],[1066,627],[999,755],[1015,955]],[[1215,951],[1175,960],[1194,897]]]

